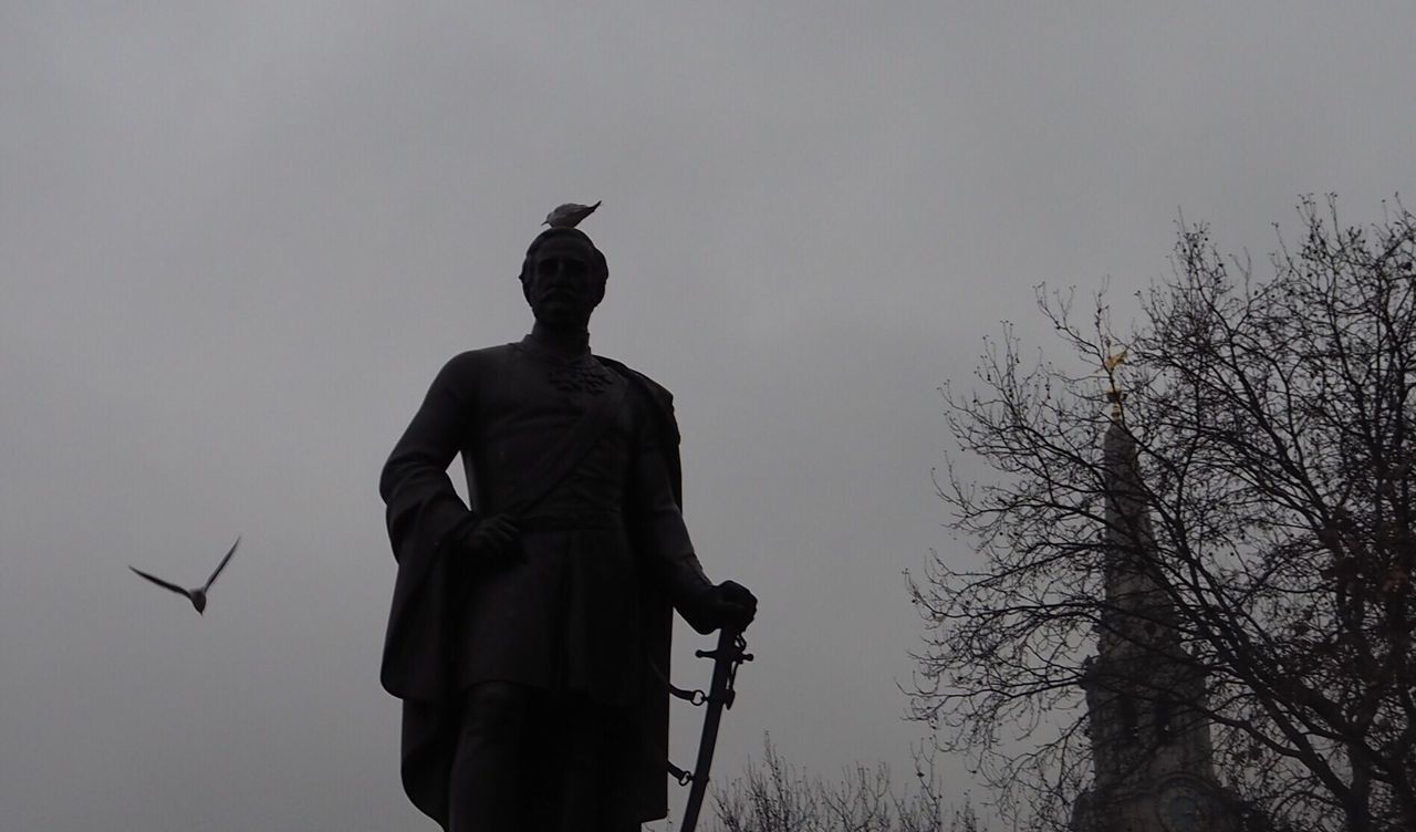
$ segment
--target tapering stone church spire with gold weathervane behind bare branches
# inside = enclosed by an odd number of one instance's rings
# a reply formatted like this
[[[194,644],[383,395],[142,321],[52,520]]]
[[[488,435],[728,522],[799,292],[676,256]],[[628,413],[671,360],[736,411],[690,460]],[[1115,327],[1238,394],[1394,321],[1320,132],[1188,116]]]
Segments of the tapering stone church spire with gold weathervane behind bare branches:
[[[1075,832],[1231,832],[1211,761],[1204,669],[1184,644],[1168,591],[1164,550],[1151,526],[1153,494],[1140,470],[1140,443],[1126,424],[1117,369],[1126,349],[1106,355],[1110,420],[1102,439],[1100,533],[1104,604],[1097,655],[1087,661],[1087,730],[1095,778],[1073,807]],[[1185,825],[1191,818],[1201,825]]]

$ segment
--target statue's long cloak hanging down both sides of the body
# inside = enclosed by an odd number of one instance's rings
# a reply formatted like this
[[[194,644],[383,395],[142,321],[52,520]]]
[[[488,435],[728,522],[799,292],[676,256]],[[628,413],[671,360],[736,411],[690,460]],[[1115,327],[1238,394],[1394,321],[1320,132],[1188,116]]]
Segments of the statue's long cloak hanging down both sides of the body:
[[[477,352],[486,359],[497,351],[507,349],[514,349],[514,345]],[[467,355],[472,354],[463,354]],[[496,354],[494,358],[501,361],[508,355]],[[463,357],[449,362],[439,381],[435,381],[419,417],[429,409],[440,408],[440,400],[449,395],[447,389],[440,386],[456,383],[455,378],[443,376],[455,376],[456,374],[449,374],[449,368]],[[650,378],[623,364],[606,358],[598,361],[632,385],[627,402],[647,412],[658,434],[657,447],[671,483],[673,501],[681,508],[678,427],[673,396]],[[415,424],[416,422],[418,417]],[[412,430],[413,426],[409,427],[409,432]],[[470,449],[462,450],[466,461],[472,456]],[[436,466],[404,466],[391,471],[398,453],[395,449],[381,481],[398,576],[379,679],[389,693],[402,699],[404,788],[422,812],[446,828],[449,770],[456,751],[460,707],[456,657],[464,649],[459,641],[462,631],[457,628],[460,620],[457,604],[467,597],[462,582],[469,577],[463,570],[455,569],[440,543],[463,524],[476,522],[479,515],[456,495],[446,475],[446,464],[442,471],[438,471]],[[473,499],[476,501],[476,495]],[[684,542],[687,543],[687,538]],[[653,548],[654,541],[640,539],[636,545]],[[673,562],[661,557],[671,557]],[[637,734],[626,737],[626,741],[632,744],[636,760],[632,774],[633,809],[641,821],[651,821],[663,818],[668,809],[664,757],[668,743],[666,675],[670,665],[673,608],[677,606],[695,630],[707,631],[697,608],[701,607],[701,599],[711,584],[691,550],[643,552],[643,560],[654,563],[656,569],[641,570],[637,574],[640,621],[636,641],[641,666],[640,672],[634,674],[640,691],[632,715],[637,720]]]

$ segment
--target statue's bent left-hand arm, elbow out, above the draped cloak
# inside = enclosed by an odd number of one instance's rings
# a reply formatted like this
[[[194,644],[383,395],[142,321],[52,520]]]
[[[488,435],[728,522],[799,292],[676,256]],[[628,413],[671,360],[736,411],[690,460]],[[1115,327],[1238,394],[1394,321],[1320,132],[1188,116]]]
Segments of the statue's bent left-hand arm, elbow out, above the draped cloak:
[[[452,531],[474,519],[447,475],[470,424],[474,375],[467,354],[443,365],[384,463],[378,492],[388,507],[395,556],[415,525],[423,541],[436,548]],[[415,519],[419,522],[413,524]]]

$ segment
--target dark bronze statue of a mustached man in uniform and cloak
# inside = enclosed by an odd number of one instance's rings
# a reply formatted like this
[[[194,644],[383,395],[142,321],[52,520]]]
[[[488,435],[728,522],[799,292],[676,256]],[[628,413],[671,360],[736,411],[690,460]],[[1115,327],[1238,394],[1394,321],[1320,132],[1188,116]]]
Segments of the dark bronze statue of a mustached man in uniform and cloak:
[[[673,610],[702,634],[756,613],[694,553],[668,391],[589,349],[607,277],[582,231],[537,236],[531,334],[453,357],[379,478],[398,560],[381,681],[405,791],[449,832],[663,818]]]

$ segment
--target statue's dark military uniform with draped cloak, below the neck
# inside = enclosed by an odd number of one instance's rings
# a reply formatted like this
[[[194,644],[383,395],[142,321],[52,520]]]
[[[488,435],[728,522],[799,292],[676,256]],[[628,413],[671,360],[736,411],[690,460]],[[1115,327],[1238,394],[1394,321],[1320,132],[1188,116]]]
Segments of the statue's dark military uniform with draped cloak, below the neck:
[[[520,539],[507,557],[479,563],[450,545],[504,511],[606,396],[620,406],[579,464],[511,518]],[[677,441],[668,392],[588,348],[566,354],[528,335],[438,374],[379,481],[399,560],[382,681],[404,699],[405,788],[445,828],[452,760],[469,743],[457,723],[469,724],[466,695],[486,683],[534,691],[556,719],[623,726],[606,756],[617,768],[612,814],[634,824],[666,814],[670,606],[708,631],[695,610],[712,590],[680,514]],[[470,508],[447,477],[457,454]]]

